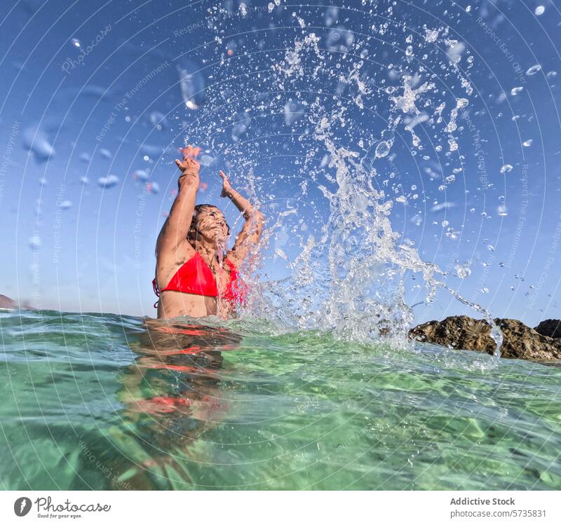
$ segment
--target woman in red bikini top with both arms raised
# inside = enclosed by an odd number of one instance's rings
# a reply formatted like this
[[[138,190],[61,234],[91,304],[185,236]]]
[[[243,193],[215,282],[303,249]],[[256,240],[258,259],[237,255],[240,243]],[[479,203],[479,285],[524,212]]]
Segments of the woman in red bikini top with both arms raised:
[[[245,285],[238,268],[263,231],[264,216],[234,190],[224,172],[222,197],[243,213],[245,224],[234,247],[226,251],[230,228],[224,214],[210,204],[196,206],[199,164],[191,158],[198,149],[187,148],[179,191],[156,242],[156,278],[152,282],[158,301],[158,319],[180,315],[231,317],[243,302]],[[156,306],[156,305],[154,305]]]

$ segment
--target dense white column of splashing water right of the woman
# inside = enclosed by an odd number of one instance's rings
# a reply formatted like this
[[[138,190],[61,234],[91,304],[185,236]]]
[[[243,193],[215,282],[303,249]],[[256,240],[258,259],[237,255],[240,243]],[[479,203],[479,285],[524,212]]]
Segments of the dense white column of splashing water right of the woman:
[[[318,37],[314,34],[296,40],[293,49],[287,51],[285,60],[277,68],[279,88],[288,88],[288,83],[302,76],[302,56],[314,53],[323,58],[318,50]],[[313,75],[318,72],[314,67]],[[347,83],[354,80],[363,97],[369,95],[358,69],[353,69]],[[393,136],[399,125],[404,125],[402,115],[419,118],[417,104],[424,102],[423,95],[435,90],[435,83],[414,81],[414,77],[403,75],[401,88],[390,95],[393,103],[388,118],[388,127],[382,135]],[[393,93],[393,92],[392,92]],[[447,125],[441,124],[443,132],[457,129],[457,116],[468,105],[466,98],[458,98]],[[440,108],[442,112],[444,106]],[[384,191],[375,189],[373,182],[377,170],[370,170],[360,162],[360,154],[346,146],[337,144],[334,129],[345,123],[349,107],[329,111],[320,97],[311,104],[309,123],[313,127],[313,140],[323,146],[330,157],[329,168],[334,170],[336,187],[330,191],[319,185],[330,206],[327,224],[321,231],[320,240],[309,238],[302,245],[302,252],[291,264],[292,278],[280,286],[276,304],[283,304],[285,311],[292,311],[292,320],[302,328],[331,330],[339,336],[352,339],[371,339],[391,335],[399,338],[407,333],[413,321],[412,311],[404,301],[405,272],[421,273],[426,285],[427,301],[432,301],[439,287],[445,288],[463,304],[482,313],[493,327],[492,335],[500,347],[500,332],[492,318],[482,307],[472,304],[453,289],[441,277],[446,273],[434,264],[422,261],[413,247],[400,243],[400,235],[393,231],[390,221],[393,201]],[[421,118],[420,121],[425,121]],[[405,125],[412,132],[418,122]],[[378,142],[374,157],[388,156],[392,139]],[[419,140],[413,133],[413,147]],[[284,299],[283,299],[284,298]],[[290,298],[290,299],[287,299]]]

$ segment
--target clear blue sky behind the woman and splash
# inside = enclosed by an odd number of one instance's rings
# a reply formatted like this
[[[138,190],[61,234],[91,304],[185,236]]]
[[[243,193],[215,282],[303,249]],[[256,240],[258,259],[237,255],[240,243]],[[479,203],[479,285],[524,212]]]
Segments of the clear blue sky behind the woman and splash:
[[[282,0],[272,11],[269,2],[186,4],[2,2],[0,293],[43,308],[154,315],[154,242],[186,139],[208,150],[199,202],[224,207],[231,224],[237,214],[219,198],[219,168],[242,191],[253,170],[271,221],[297,207],[266,253],[269,278],[285,277],[275,250],[297,256],[299,238],[327,219],[317,184],[333,186],[325,151],[306,140],[302,104],[318,93],[348,104],[339,139],[369,161],[388,97],[372,90],[359,110],[352,88],[337,81],[337,63],[349,71],[355,53],[361,79],[377,87],[397,85],[398,68],[426,79],[433,71],[437,90],[459,96],[450,66],[457,53],[473,86],[457,119],[457,151],[446,155],[447,135],[419,123],[423,151],[402,127],[376,164],[378,184],[386,180],[392,199],[407,200],[394,203],[393,229],[441,268],[467,263],[471,275],[447,283],[493,315],[530,325],[560,318],[561,13],[553,3],[353,1],[328,9]],[[426,29],[439,29],[438,39],[426,41]],[[271,93],[271,64],[312,32],[325,71]],[[446,39],[459,47],[451,51]],[[426,95],[431,107],[438,97]],[[449,102],[447,120],[451,109]],[[413,277],[410,304],[423,299]],[[427,320],[466,310],[442,292],[415,312]]]

